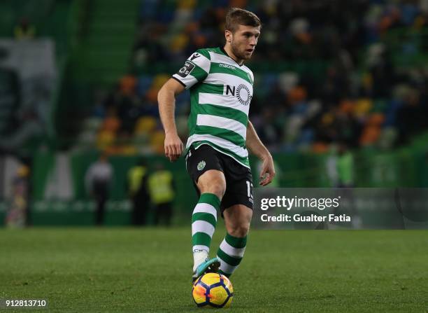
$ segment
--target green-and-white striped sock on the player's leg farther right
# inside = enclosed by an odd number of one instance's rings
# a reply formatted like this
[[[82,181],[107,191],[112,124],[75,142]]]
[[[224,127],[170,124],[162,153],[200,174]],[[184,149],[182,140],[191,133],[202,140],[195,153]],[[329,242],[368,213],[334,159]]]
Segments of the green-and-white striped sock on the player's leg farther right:
[[[217,251],[217,258],[220,258],[220,273],[229,277],[238,267],[245,252],[247,236],[238,238],[226,234]]]

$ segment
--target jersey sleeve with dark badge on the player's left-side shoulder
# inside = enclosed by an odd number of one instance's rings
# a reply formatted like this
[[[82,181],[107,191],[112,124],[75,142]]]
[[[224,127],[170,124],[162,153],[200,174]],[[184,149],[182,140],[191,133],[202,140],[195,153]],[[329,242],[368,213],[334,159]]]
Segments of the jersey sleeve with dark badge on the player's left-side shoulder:
[[[173,74],[173,78],[189,89],[194,84],[204,81],[210,72],[211,58],[208,51],[201,49],[190,55],[184,66]]]

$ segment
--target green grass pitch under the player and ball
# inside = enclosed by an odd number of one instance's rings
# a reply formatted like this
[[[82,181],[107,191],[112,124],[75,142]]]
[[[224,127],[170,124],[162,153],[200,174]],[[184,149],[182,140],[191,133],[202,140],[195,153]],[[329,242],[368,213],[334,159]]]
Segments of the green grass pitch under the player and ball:
[[[0,230],[0,298],[45,298],[50,312],[198,312],[190,242],[187,228]],[[428,312],[428,233],[252,230],[231,281],[231,312]]]

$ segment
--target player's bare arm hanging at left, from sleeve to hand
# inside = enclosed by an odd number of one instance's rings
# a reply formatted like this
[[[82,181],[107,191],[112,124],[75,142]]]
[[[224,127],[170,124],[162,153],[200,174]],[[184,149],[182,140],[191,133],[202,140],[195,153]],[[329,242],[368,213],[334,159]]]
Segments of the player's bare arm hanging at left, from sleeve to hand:
[[[170,78],[157,94],[157,102],[159,104],[159,115],[164,125],[165,131],[165,156],[171,162],[180,158],[183,153],[183,141],[178,137],[176,119],[174,111],[176,111],[176,95],[183,92],[185,87],[183,84]]]

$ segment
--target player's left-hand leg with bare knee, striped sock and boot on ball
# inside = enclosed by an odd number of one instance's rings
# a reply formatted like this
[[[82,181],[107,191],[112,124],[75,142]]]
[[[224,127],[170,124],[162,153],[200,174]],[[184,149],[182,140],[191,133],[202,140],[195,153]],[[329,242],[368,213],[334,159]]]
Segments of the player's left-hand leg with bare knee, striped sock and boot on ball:
[[[217,263],[214,265],[215,267],[220,265],[217,260],[206,262],[208,261],[211,239],[217,225],[217,210],[220,209],[220,202],[226,190],[226,179],[224,179],[224,174],[221,171],[210,169],[199,176],[197,187],[201,195],[192,214],[192,251],[195,277],[198,277],[201,272],[206,270],[206,267],[213,263]]]

